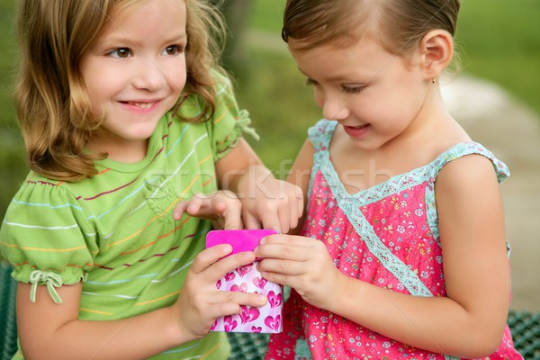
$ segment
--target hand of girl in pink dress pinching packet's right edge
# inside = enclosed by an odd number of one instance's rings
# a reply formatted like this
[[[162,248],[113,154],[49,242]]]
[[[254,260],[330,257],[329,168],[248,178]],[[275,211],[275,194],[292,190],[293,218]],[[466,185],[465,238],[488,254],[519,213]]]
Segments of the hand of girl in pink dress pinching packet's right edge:
[[[258,270],[266,280],[290,286],[303,300],[329,310],[344,279],[322,241],[292,235],[272,235],[261,240],[255,255],[263,259]]]

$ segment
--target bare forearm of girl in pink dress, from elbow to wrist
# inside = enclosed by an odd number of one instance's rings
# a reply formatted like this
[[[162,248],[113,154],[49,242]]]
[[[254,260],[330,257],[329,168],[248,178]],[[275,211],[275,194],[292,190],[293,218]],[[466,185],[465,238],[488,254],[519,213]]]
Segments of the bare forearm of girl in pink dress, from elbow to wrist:
[[[411,296],[344,278],[327,310],[388,338],[466,358],[487,356],[500,345],[504,321],[494,314],[468,311],[448,297]]]

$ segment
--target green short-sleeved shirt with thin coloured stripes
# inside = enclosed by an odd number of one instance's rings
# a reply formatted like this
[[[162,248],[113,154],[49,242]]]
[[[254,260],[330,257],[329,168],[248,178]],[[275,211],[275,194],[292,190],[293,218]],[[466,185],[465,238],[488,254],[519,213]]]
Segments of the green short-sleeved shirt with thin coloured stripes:
[[[76,183],[31,172],[0,230],[0,250],[14,265],[14,278],[29,283],[39,270],[59,275],[63,284],[83,280],[83,320],[125,319],[175,302],[211,229],[209,221],[187,215],[174,220],[175,205],[217,190],[214,162],[236,145],[238,121],[248,122],[229,82],[220,83],[218,93],[211,121],[188,123],[167,113],[139,163],[105,159],[96,163],[98,175]],[[200,108],[190,98],[180,113]],[[211,332],[155,358],[228,356],[224,335]]]

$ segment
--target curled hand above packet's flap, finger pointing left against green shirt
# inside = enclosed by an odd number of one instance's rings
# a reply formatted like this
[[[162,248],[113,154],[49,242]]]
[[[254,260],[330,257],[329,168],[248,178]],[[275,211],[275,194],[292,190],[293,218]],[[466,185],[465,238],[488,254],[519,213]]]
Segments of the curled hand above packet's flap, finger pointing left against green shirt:
[[[242,203],[235,193],[220,190],[213,194],[196,193],[189,201],[179,202],[173,218],[180,220],[182,214],[212,220],[214,229],[243,229]]]

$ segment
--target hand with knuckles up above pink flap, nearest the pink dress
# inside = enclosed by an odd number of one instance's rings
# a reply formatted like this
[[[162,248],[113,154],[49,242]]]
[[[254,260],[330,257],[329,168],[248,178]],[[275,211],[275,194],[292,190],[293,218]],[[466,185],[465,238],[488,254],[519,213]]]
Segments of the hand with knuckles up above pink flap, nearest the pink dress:
[[[302,216],[302,189],[277,180],[266,168],[252,167],[252,173],[238,181],[242,218],[247,229],[276,229],[287,233]]]

